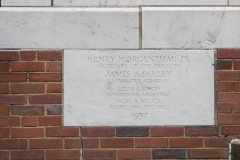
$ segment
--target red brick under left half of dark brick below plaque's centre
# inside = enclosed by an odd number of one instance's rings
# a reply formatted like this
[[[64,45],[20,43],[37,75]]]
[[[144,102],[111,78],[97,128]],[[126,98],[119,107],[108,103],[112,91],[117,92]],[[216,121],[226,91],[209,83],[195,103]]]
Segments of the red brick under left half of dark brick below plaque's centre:
[[[133,138],[101,139],[101,148],[133,148]]]

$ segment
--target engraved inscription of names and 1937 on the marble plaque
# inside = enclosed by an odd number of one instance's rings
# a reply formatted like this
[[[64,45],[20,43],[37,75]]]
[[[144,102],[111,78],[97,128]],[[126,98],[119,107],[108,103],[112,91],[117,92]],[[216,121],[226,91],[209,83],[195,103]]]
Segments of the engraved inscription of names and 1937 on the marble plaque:
[[[166,99],[172,93],[166,85],[174,72],[191,62],[178,56],[87,56],[97,70],[104,70],[110,110],[134,110],[133,120],[143,120],[149,110],[169,109]],[[164,87],[165,86],[165,87]],[[144,112],[139,112],[144,111]],[[119,112],[119,111],[116,111]]]

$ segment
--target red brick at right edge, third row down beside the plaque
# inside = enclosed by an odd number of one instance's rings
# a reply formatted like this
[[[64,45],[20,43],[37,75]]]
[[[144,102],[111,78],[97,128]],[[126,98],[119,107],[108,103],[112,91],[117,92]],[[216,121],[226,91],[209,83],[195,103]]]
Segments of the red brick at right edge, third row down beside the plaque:
[[[239,81],[240,71],[217,71],[219,81]]]

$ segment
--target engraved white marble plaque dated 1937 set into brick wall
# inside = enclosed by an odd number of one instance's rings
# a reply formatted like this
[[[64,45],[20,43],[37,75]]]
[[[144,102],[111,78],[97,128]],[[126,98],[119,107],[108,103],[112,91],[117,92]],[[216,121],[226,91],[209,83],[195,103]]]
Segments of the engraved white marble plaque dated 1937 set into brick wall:
[[[214,51],[65,50],[65,126],[214,125]]]

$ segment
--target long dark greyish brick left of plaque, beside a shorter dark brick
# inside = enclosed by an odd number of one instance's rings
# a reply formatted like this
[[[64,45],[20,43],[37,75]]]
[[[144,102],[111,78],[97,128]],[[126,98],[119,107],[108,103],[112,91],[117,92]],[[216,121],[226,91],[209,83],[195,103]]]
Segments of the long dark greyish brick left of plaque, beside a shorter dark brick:
[[[44,115],[44,106],[11,106],[12,115]]]

